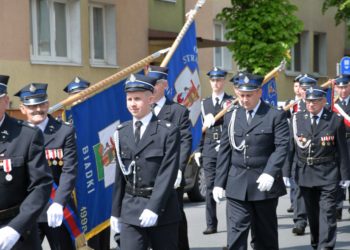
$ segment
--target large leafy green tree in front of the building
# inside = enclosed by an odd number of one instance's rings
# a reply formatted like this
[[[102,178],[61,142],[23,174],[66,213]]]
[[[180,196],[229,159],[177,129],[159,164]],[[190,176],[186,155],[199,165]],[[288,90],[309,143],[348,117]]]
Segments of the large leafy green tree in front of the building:
[[[225,23],[225,37],[239,67],[265,75],[279,65],[297,42],[303,23],[288,0],[231,0],[217,19]]]

